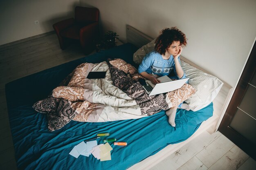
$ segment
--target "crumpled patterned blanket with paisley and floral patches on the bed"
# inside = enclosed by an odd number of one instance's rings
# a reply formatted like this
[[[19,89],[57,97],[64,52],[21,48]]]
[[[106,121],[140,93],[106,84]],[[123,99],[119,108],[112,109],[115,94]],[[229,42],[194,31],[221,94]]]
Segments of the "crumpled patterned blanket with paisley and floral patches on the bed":
[[[90,71],[106,71],[106,77],[88,79]],[[154,115],[178,106],[195,93],[191,85],[184,84],[175,91],[148,96],[137,81],[139,78],[143,77],[136,68],[121,59],[83,63],[33,108],[47,115],[48,129],[54,131],[71,120],[104,122]]]

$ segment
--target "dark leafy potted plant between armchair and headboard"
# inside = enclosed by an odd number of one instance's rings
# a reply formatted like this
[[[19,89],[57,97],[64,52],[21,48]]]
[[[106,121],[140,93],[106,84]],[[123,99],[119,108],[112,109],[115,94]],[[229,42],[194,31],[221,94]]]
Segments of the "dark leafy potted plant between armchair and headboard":
[[[97,45],[97,51],[100,49],[110,49],[114,46],[117,46],[116,39],[118,38],[119,35],[113,31],[108,31],[104,34],[100,44]]]

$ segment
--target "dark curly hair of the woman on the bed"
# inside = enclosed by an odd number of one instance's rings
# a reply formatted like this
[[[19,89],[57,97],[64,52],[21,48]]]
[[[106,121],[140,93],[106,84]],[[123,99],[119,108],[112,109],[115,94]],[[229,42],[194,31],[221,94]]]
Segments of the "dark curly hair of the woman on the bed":
[[[163,29],[155,40],[155,51],[161,55],[165,55],[166,50],[174,41],[180,41],[182,47],[186,46],[186,35],[177,27]]]

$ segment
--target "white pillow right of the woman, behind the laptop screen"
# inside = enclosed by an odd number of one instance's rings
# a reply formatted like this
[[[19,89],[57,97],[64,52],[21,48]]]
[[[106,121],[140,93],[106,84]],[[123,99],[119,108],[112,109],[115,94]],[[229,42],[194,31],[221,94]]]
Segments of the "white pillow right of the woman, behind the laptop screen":
[[[223,82],[217,77],[204,73],[184,61],[180,62],[186,77],[189,77],[189,84],[196,89],[196,92],[185,102],[193,111],[208,106],[219,93]]]

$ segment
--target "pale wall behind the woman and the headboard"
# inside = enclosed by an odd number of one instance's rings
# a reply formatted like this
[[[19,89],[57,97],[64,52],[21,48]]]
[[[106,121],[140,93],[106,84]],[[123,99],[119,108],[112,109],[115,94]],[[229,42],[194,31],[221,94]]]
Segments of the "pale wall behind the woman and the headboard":
[[[188,40],[182,55],[235,86],[256,37],[256,0],[80,0],[97,7],[104,31],[126,41],[126,24],[156,38],[177,26]]]

